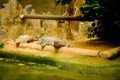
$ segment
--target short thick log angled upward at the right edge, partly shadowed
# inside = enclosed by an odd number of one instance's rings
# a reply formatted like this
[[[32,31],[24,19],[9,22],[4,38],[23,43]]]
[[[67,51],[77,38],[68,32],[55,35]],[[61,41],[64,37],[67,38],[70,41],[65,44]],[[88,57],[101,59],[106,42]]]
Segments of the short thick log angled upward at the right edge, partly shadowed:
[[[104,52],[99,53],[100,57],[106,58],[106,59],[114,59],[116,57],[119,57],[120,55],[120,47],[116,47],[113,49],[106,50]]]

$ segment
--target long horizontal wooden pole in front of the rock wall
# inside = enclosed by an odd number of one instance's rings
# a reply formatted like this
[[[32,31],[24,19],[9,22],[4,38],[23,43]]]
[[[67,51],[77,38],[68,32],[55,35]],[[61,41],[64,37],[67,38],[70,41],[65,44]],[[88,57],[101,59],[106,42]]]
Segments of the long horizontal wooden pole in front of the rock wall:
[[[21,19],[45,19],[45,20],[73,20],[85,21],[83,16],[59,16],[59,15],[39,15],[39,14],[22,14]]]

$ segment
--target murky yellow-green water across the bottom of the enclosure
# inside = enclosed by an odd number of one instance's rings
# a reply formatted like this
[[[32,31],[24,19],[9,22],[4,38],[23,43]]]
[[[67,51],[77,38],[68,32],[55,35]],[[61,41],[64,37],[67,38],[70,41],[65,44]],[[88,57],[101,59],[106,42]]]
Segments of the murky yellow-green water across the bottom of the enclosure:
[[[0,58],[0,80],[120,80],[119,66],[82,67],[77,72],[70,69]]]

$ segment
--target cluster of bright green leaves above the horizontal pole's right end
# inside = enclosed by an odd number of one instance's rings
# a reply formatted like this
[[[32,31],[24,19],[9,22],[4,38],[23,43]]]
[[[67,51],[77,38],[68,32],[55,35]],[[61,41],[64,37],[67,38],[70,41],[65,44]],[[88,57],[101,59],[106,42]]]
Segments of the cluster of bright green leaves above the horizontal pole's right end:
[[[99,19],[102,17],[101,9],[103,7],[100,6],[98,1],[93,0],[93,2],[86,2],[86,4],[82,4],[80,7],[80,11],[84,14],[84,17],[87,19]]]

